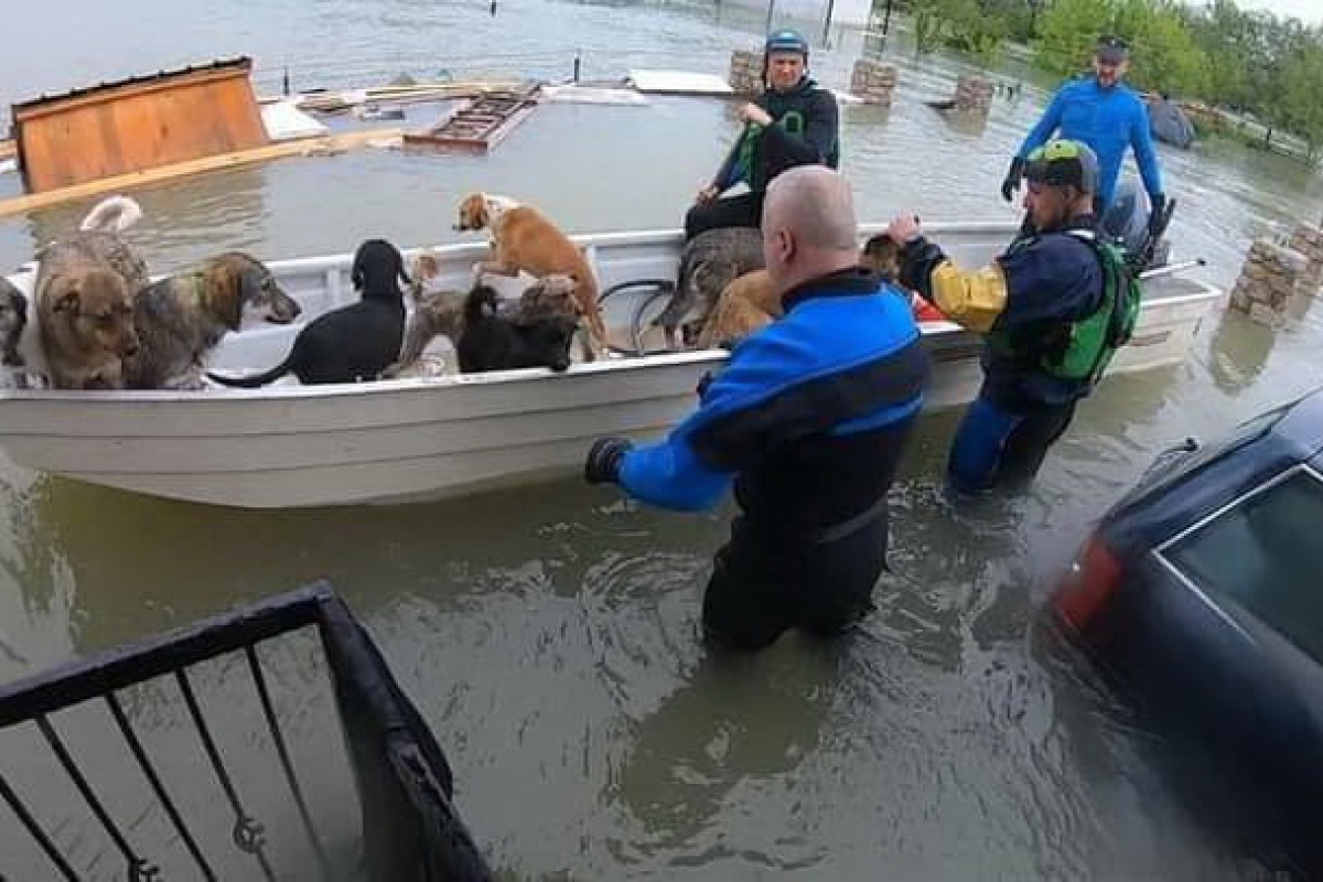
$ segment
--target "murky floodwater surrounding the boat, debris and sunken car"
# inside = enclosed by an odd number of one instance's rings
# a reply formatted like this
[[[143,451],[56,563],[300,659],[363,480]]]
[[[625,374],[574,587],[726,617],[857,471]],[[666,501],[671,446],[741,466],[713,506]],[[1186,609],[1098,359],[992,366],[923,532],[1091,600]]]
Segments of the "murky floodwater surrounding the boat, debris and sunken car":
[[[585,77],[725,73],[732,49],[757,44],[761,20],[751,26],[654,4],[505,0],[493,17],[484,3],[422,0],[66,0],[7,11],[11,33],[50,38],[0,53],[0,99],[241,53],[273,90],[282,65],[295,86],[401,70],[568,75],[576,49]],[[844,87],[857,54],[843,34],[814,67]],[[998,185],[1043,94],[999,99],[986,126],[958,124],[921,103],[950,95],[955,65],[892,60],[896,106],[844,115],[861,216],[1013,217]],[[159,272],[229,247],[274,258],[376,235],[437,243],[456,237],[454,206],[478,188],[576,231],[669,227],[734,131],[730,108],[709,99],[544,106],[488,157],[361,151],[144,190],[132,238]],[[1222,284],[1254,237],[1323,213],[1323,181],[1289,161],[1213,144],[1160,153],[1180,200],[1177,257],[1207,258],[1203,272]],[[16,192],[0,179],[0,194]],[[90,204],[0,222],[0,266],[28,259]],[[878,611],[831,649],[787,639],[726,664],[704,655],[696,625],[729,509],[672,516],[564,481],[452,504],[230,512],[0,460],[0,680],[328,578],[448,751],[492,863],[516,878],[1254,878],[1172,795],[1154,762],[1160,744],[1033,621],[1090,520],[1156,448],[1318,385],[1320,342],[1316,311],[1275,335],[1211,316],[1183,365],[1106,383],[1033,492],[995,509],[942,501],[958,414],[926,419],[896,487],[897,575],[878,588]],[[302,694],[312,662],[291,659],[284,685]],[[226,674],[204,681],[247,747],[241,774],[261,780],[266,760],[249,717],[230,711]],[[348,837],[353,819],[336,812],[345,784],[319,762],[339,750],[311,713],[324,702],[295,703],[315,813]],[[45,778],[30,744],[0,751],[20,785],[61,780]],[[90,878],[116,878],[90,817],[56,826]],[[0,820],[0,875],[46,878],[28,873],[44,865],[16,834]]]

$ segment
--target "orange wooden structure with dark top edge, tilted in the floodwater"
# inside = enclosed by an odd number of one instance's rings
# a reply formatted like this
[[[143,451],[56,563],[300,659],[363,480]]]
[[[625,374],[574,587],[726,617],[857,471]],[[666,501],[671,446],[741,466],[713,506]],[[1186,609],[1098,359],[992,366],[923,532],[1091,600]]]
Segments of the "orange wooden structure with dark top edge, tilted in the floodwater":
[[[269,144],[251,69],[241,57],[15,104],[28,192]]]

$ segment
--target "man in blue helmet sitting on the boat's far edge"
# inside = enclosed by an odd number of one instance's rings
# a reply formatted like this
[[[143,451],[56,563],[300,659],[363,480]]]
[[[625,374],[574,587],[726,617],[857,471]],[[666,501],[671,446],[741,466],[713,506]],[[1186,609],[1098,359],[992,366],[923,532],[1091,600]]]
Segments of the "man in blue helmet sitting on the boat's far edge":
[[[807,75],[808,41],[778,30],[767,37],[762,63],[763,93],[740,108],[744,132],[685,214],[687,239],[722,226],[758,226],[774,177],[795,165],[840,163],[836,97]],[[718,198],[741,182],[747,193]]]

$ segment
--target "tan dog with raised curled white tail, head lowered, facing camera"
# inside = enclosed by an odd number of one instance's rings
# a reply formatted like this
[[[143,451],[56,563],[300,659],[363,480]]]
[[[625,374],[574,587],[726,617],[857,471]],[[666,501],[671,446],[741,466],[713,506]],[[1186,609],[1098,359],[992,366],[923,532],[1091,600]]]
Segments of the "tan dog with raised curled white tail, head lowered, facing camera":
[[[123,389],[123,360],[138,352],[132,295],[147,287],[147,264],[119,237],[139,217],[114,196],[79,230],[38,255],[33,284],[37,324],[56,389]]]

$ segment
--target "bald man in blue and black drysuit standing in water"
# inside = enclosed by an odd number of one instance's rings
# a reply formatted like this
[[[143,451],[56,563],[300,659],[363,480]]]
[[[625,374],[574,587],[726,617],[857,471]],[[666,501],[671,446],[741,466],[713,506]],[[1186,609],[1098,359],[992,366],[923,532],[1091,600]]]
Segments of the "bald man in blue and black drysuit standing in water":
[[[703,598],[709,643],[758,649],[839,633],[871,607],[886,491],[929,377],[909,295],[859,266],[844,179],[806,165],[767,188],[767,271],[785,316],[746,337],[662,442],[593,444],[589,483],[652,505],[742,509]]]

